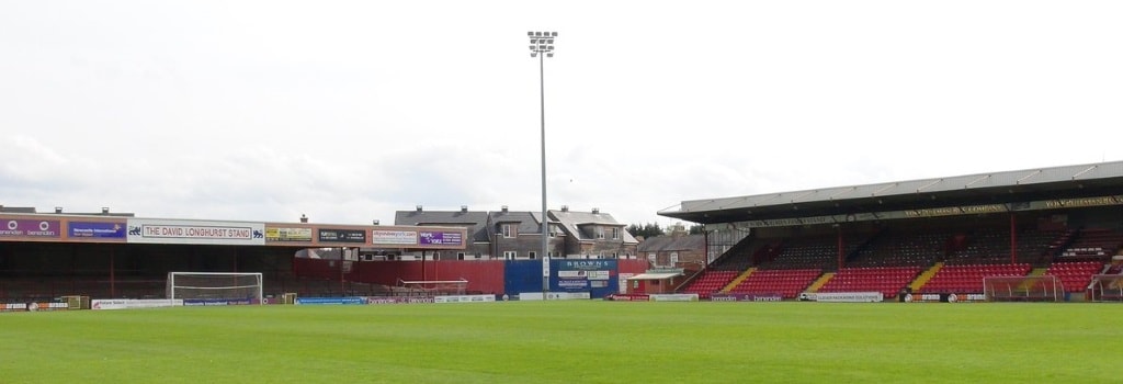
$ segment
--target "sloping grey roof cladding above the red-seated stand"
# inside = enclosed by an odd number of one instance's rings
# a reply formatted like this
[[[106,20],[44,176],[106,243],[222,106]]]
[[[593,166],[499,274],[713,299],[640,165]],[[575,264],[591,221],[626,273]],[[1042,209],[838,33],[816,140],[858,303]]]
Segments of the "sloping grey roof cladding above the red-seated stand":
[[[685,200],[659,211],[668,217],[693,217],[696,212],[720,210],[754,210],[800,203],[855,201],[860,199],[895,198],[909,195],[940,195],[977,191],[986,193],[996,189],[1032,189],[1038,185],[1058,185],[1123,180],[1123,162],[1066,165],[969,174],[949,177],[920,179],[876,184],[824,188],[805,191],[765,193],[743,196]]]

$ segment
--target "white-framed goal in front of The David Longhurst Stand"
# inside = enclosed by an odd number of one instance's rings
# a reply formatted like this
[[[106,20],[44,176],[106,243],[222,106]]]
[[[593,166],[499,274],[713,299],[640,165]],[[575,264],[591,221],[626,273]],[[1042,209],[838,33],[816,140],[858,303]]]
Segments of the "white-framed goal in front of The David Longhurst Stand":
[[[261,273],[168,272],[167,299],[188,304],[261,304]]]

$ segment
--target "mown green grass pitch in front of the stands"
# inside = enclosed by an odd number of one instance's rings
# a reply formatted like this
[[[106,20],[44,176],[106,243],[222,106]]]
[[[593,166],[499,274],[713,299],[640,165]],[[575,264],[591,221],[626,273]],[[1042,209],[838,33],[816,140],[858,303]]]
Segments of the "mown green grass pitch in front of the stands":
[[[1116,383],[1121,314],[602,301],[0,313],[0,383]]]

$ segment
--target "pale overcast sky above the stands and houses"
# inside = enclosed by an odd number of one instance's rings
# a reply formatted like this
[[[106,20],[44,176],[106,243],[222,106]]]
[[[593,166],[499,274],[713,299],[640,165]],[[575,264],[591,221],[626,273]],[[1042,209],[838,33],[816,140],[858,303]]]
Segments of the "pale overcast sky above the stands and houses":
[[[1123,1],[0,0],[0,204],[392,223],[1123,159]]]

